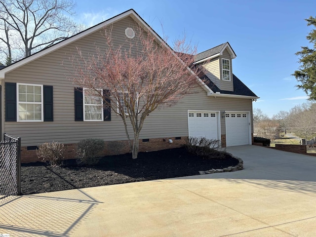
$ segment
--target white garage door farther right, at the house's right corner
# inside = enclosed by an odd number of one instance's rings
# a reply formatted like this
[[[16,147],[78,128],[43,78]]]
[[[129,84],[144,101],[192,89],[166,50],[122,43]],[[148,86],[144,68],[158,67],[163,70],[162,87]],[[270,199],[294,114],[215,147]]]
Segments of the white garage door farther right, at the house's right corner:
[[[250,144],[248,117],[247,112],[226,112],[226,146]]]

